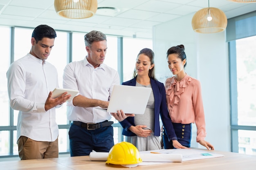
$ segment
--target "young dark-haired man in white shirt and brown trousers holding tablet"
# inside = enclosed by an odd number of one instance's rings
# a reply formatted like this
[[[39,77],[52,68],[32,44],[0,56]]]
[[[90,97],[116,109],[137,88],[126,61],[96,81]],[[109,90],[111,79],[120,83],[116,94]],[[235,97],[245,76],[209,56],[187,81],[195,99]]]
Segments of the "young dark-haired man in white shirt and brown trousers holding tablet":
[[[10,106],[19,110],[17,144],[21,160],[58,157],[55,107],[60,107],[70,95],[63,93],[52,99],[52,91],[58,87],[58,73],[45,60],[55,38],[52,27],[37,26],[30,52],[13,62],[7,71]]]

